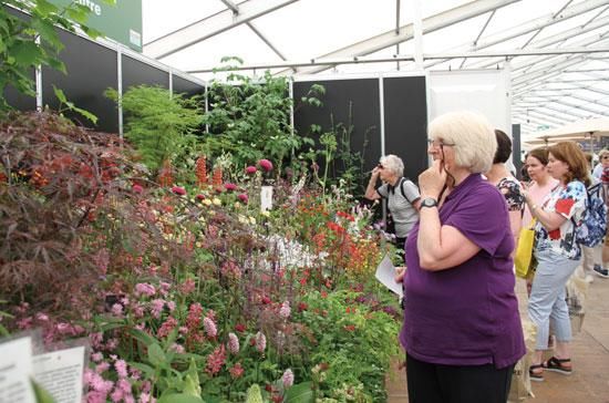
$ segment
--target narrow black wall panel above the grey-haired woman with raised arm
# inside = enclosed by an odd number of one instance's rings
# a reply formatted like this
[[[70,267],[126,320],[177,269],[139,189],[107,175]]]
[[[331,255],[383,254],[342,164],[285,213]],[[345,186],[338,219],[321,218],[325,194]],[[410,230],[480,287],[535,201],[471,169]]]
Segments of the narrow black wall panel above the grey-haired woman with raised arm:
[[[383,79],[385,154],[404,162],[404,176],[416,182],[427,168],[427,102],[424,76]]]

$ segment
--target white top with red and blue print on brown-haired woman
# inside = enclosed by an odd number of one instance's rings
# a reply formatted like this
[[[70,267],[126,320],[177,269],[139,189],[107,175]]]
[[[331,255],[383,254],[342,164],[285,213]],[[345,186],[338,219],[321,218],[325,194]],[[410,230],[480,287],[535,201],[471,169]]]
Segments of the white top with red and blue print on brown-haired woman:
[[[579,180],[572,180],[567,186],[556,186],[545,198],[540,208],[545,211],[558,213],[567,219],[551,231],[537,221],[535,249],[538,251],[551,249],[567,259],[578,260],[581,257],[581,249],[575,241],[574,220],[580,224],[587,198],[586,186]]]

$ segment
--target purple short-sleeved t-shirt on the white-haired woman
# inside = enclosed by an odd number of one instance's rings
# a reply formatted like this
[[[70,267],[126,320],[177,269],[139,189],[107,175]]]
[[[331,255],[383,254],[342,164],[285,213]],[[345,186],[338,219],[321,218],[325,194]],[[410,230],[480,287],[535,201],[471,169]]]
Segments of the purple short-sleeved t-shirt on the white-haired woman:
[[[446,197],[440,220],[481,247],[446,270],[421,269],[417,223],[406,242],[406,303],[400,341],[417,360],[446,365],[496,368],[525,354],[514,293],[514,238],[504,196],[472,174]]]

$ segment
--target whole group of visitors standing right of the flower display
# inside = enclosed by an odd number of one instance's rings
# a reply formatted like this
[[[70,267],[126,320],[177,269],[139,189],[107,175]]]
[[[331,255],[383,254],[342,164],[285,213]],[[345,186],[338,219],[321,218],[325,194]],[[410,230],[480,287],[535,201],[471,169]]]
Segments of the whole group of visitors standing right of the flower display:
[[[365,193],[389,200],[400,247],[405,242],[407,265],[396,281],[405,296],[400,341],[410,402],[507,401],[514,366],[526,352],[513,256],[520,228],[531,225],[526,281],[537,332],[529,375],[544,381],[545,371],[570,374],[567,280],[582,256],[591,269],[579,275],[588,282],[592,272],[609,277],[609,237],[585,247],[579,235],[591,184],[603,184],[607,205],[609,151],[592,172],[574,142],[536,148],[517,179],[506,167],[509,136],[481,115],[442,115],[430,124],[429,138],[433,163],[419,176],[419,189],[402,177],[403,162],[388,155]],[[375,188],[378,179],[383,184]],[[543,361],[551,340],[554,354]]]

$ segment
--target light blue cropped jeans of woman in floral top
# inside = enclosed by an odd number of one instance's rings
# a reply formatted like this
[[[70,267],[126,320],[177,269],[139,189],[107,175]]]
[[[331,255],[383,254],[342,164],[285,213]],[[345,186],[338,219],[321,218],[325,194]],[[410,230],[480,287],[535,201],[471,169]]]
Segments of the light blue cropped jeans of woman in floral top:
[[[571,321],[567,308],[565,286],[579,265],[553,251],[535,251],[538,266],[528,299],[528,316],[537,326],[536,350],[547,350],[550,320],[556,339],[571,340]]]

